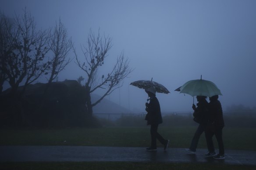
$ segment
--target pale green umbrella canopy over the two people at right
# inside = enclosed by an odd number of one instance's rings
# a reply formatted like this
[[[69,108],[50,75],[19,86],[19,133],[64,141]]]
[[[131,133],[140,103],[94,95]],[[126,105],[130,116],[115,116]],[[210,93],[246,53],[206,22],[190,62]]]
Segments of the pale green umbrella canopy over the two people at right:
[[[180,93],[189,94],[191,96],[207,96],[222,95],[220,89],[211,81],[208,80],[190,80],[183,86],[178,88]],[[176,89],[176,91],[178,91]]]

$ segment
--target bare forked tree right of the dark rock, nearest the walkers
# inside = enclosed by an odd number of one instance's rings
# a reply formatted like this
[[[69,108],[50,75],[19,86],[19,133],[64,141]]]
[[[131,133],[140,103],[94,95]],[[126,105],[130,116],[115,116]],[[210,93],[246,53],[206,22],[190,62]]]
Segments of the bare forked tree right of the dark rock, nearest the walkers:
[[[128,58],[124,58],[124,52],[121,52],[117,56],[116,63],[110,72],[106,75],[102,75],[101,81],[97,82],[98,74],[97,71],[104,64],[105,59],[108,56],[108,52],[111,49],[112,39],[108,36],[101,36],[100,29],[98,34],[95,35],[90,29],[87,47],[82,48],[84,61],[81,62],[78,59],[78,55],[75,52],[77,65],[85,72],[85,91],[87,94],[87,101],[85,103],[89,115],[92,116],[92,107],[98,104],[104,97],[111,94],[114,90],[122,87],[122,80],[126,78],[132,69],[129,67]],[[75,51],[75,50],[74,50]],[[90,94],[97,89],[105,89],[105,93],[95,103],[91,102]]]

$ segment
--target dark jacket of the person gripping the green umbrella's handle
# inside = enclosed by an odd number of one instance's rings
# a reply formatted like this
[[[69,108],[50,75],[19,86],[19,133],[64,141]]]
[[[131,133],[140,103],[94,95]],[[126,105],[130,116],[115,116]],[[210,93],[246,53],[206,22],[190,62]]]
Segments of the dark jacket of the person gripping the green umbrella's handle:
[[[199,101],[196,105],[196,110],[193,113],[194,121],[206,125],[209,119],[208,102],[204,99]]]

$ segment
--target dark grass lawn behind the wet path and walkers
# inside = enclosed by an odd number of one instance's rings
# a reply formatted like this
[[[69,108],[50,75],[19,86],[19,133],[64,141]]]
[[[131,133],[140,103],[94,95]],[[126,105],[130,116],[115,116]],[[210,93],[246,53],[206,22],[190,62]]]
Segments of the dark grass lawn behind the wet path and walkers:
[[[170,139],[169,147],[188,148],[197,126],[159,126],[159,133]],[[150,127],[107,127],[65,129],[1,129],[0,145],[20,146],[131,146],[150,145]],[[224,127],[225,149],[256,150],[256,128]],[[213,138],[215,146],[216,139]],[[159,144],[159,143],[158,143]],[[159,144],[160,145],[160,144]],[[206,148],[202,134],[198,148]]]

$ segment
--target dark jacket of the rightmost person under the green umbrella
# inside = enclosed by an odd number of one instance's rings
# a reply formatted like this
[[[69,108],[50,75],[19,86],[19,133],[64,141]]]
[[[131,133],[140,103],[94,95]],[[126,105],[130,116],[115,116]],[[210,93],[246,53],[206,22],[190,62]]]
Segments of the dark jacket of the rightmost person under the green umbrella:
[[[224,127],[223,112],[220,101],[218,101],[217,99],[210,101],[209,112],[209,121],[214,123],[216,127]]]

